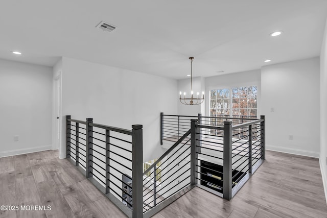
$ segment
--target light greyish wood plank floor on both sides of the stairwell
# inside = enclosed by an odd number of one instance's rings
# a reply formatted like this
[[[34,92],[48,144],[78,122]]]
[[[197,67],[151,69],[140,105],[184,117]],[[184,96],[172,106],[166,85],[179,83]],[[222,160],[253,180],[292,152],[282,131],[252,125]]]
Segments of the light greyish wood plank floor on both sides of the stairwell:
[[[0,217],[125,217],[56,151],[0,158],[1,205],[50,205]],[[230,201],[193,188],[153,217],[327,217],[318,159],[267,151]]]

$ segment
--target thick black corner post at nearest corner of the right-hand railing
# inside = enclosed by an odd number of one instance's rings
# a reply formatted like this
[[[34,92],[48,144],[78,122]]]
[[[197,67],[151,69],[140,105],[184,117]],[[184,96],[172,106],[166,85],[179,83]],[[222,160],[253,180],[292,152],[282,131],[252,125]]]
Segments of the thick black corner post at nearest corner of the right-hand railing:
[[[231,199],[231,121],[224,121],[223,198]]]

